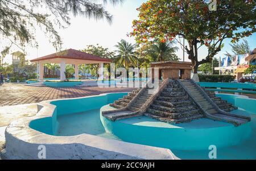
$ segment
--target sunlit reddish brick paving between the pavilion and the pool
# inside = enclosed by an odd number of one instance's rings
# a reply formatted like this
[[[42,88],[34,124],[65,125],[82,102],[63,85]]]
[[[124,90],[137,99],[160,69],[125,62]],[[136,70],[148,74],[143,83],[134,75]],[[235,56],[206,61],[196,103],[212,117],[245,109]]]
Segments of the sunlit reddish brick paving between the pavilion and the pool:
[[[37,103],[49,99],[86,97],[102,93],[129,92],[133,89],[118,87],[32,87],[7,83],[0,86],[0,106]]]

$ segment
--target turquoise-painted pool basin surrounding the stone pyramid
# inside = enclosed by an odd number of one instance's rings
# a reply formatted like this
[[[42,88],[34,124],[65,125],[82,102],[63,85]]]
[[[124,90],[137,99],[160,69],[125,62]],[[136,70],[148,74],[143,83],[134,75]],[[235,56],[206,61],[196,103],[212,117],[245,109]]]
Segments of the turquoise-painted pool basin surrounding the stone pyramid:
[[[256,115],[251,108],[250,111],[242,108],[233,111],[251,116],[251,122],[240,127],[210,119],[173,125],[146,116],[117,122],[101,117],[101,110],[109,110],[109,103],[126,94],[110,93],[89,98],[53,101],[51,103],[57,107],[52,117],[33,120],[30,127],[55,136],[91,134],[170,148],[180,159],[209,159],[209,145],[216,145],[217,159],[256,159]],[[236,97],[231,96],[229,100],[237,101]],[[241,101],[242,99],[239,99],[240,103]],[[250,102],[250,105],[255,102]]]

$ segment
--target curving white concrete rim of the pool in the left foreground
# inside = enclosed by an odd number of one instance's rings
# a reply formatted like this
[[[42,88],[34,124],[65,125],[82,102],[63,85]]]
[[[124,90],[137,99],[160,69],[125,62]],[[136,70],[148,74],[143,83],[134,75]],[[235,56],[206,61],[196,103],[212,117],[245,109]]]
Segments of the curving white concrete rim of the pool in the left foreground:
[[[96,96],[104,95],[107,94]],[[46,146],[46,159],[178,159],[165,148],[126,143],[89,134],[52,136],[30,128],[32,120],[53,116],[56,106],[50,102],[52,101],[40,102],[39,106],[42,107],[36,116],[16,120],[7,126],[3,159],[38,159],[39,145]]]

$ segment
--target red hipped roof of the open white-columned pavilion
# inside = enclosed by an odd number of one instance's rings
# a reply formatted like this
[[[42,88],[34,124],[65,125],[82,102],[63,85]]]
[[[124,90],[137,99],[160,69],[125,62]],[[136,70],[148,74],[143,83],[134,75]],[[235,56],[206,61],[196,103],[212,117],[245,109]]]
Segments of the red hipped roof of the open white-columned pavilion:
[[[48,59],[56,59],[56,58],[112,62],[112,60],[110,60],[110,59],[105,59],[103,57],[90,55],[88,53],[77,51],[75,49],[67,49],[65,51],[52,53],[51,55],[47,55],[47,56],[43,56],[43,57],[33,59],[33,60],[31,60],[31,62],[48,60]]]

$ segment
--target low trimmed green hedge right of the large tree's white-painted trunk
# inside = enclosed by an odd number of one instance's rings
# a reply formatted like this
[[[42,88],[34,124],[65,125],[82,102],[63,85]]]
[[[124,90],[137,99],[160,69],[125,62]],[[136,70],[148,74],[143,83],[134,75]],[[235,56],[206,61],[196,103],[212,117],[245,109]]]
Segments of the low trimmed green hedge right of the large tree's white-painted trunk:
[[[230,75],[205,75],[198,74],[200,82],[231,82],[234,81],[236,76]]]

